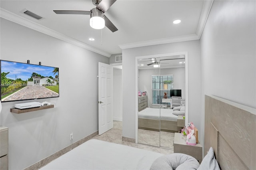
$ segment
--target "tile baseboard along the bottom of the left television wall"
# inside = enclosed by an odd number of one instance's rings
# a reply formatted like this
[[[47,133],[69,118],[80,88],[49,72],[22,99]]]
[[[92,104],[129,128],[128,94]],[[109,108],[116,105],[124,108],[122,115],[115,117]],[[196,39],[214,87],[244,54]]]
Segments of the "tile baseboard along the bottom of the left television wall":
[[[63,148],[62,150],[59,150],[58,152],[55,152],[54,154],[36,162],[35,164],[25,168],[24,170],[35,170],[35,169],[40,169],[43,166],[45,166],[46,164],[50,163],[52,160],[62,156],[63,154],[65,154],[66,152],[69,152],[70,150],[76,148],[77,146],[79,146],[80,144],[86,142],[87,140],[90,140],[91,138],[93,138],[94,136],[98,135],[99,132],[98,130],[80,140],[78,140],[77,142],[74,142],[73,144],[70,144],[69,146],[67,146],[66,148]]]

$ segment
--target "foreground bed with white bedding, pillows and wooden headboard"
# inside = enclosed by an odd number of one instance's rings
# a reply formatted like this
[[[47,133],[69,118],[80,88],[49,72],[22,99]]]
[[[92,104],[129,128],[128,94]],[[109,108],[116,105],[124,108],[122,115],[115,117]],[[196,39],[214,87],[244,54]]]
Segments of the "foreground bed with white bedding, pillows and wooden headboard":
[[[41,170],[163,170],[256,167],[256,109],[205,96],[204,159],[185,154],[163,155],[96,139],[77,146]]]

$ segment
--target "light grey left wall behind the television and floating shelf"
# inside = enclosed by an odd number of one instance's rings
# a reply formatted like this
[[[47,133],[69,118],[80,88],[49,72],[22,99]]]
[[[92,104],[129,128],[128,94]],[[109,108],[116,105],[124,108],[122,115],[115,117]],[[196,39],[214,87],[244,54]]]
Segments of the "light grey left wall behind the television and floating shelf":
[[[9,169],[24,169],[98,130],[98,62],[109,58],[2,18],[0,22],[1,59],[59,67],[60,97],[36,100],[53,103],[53,109],[15,114],[10,112],[14,103],[29,101],[2,103],[0,124],[9,127]]]

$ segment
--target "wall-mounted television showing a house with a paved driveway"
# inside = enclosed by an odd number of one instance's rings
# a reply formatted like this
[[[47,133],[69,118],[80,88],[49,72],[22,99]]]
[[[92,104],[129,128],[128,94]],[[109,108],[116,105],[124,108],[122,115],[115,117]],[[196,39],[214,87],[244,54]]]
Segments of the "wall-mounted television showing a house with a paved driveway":
[[[59,97],[59,68],[0,60],[1,102]]]

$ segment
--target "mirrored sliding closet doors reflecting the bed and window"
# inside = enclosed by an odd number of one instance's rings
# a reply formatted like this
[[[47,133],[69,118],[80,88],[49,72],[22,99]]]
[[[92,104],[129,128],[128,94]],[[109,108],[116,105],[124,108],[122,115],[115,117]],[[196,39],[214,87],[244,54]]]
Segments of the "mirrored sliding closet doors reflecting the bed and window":
[[[138,59],[138,69],[138,89],[147,95],[145,108],[140,108],[141,97],[138,97],[138,142],[173,149],[174,132],[185,124],[180,116],[179,127],[178,116],[172,114],[173,107],[185,105],[185,59],[180,56]]]

